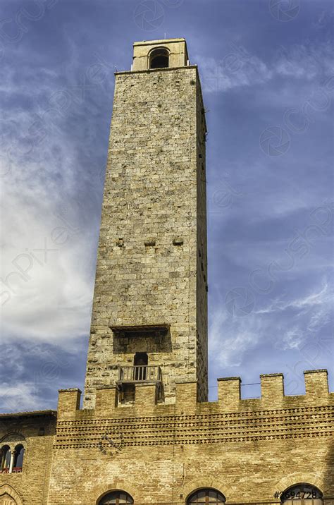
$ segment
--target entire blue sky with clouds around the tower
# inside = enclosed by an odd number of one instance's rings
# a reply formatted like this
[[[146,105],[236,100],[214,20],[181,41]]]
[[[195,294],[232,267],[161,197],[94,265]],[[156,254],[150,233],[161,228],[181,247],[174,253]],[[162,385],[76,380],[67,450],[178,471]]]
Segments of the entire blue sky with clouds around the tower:
[[[207,110],[210,395],[216,377],[333,377],[333,4],[3,0],[0,410],[83,388],[113,72],[185,37]],[[248,386],[246,384],[253,384]]]

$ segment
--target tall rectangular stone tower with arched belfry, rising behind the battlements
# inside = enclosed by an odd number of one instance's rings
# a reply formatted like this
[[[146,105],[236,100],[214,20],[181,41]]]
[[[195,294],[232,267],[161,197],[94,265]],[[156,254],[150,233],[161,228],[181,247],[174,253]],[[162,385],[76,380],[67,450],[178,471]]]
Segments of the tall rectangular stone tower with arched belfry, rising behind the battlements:
[[[84,407],[116,384],[197,381],[207,399],[206,122],[185,39],[136,42],[117,72]]]

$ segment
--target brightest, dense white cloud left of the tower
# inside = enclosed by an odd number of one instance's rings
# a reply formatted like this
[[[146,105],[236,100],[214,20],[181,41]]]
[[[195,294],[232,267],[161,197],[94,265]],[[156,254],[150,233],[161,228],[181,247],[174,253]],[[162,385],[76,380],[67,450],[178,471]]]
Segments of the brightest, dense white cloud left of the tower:
[[[11,192],[10,200],[2,230],[2,334],[69,345],[89,331],[89,235],[59,219],[47,198],[34,205]]]

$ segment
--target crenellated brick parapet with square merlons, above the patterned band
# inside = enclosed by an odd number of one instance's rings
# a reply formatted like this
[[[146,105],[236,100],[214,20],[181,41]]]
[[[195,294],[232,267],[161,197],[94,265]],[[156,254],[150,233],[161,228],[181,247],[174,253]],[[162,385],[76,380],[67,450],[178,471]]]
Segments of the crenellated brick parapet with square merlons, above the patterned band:
[[[334,394],[328,391],[327,370],[306,370],[306,394],[285,395],[283,374],[260,375],[261,398],[241,398],[240,377],[218,379],[218,401],[198,402],[197,382],[177,382],[175,403],[159,403],[155,383],[135,384],[135,399],[131,405],[122,405],[116,386],[97,389],[94,409],[80,409],[80,389],[59,391],[58,421],[84,419],[132,418],[151,415],[201,415],[234,413],[257,410],[277,410],[334,403]]]

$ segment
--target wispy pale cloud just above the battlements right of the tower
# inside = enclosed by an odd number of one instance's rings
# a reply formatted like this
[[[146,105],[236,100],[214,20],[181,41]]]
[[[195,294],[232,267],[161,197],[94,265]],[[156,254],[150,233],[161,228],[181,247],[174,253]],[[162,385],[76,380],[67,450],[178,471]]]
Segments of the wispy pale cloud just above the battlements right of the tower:
[[[247,355],[254,349],[261,353],[268,342],[283,351],[299,349],[330,322],[332,300],[333,291],[324,281],[307,296],[272,300],[244,317],[231,316],[223,302],[216,304],[209,328],[214,368],[245,366]]]

